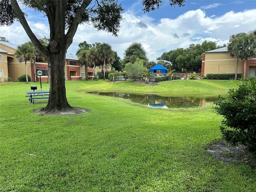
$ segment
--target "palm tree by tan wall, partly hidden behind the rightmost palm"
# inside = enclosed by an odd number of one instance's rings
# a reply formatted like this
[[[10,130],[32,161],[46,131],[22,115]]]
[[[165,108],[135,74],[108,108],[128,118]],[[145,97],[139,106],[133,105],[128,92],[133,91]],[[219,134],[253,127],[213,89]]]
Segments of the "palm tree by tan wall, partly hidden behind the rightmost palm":
[[[235,73],[235,80],[237,79],[237,71],[238,71],[238,61],[239,58],[237,57],[236,53],[238,52],[238,50],[236,50],[237,47],[236,44],[238,43],[238,39],[241,38],[243,35],[245,35],[246,33],[238,33],[238,34],[233,34],[229,37],[229,43],[228,43],[228,54],[231,57],[236,56],[236,73]]]

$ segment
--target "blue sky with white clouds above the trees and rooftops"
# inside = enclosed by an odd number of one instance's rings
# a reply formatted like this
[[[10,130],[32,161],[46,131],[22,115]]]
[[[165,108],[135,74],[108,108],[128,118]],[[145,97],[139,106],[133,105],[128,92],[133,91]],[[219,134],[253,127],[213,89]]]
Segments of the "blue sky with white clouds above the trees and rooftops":
[[[155,11],[144,13],[141,0],[123,0],[123,20],[118,37],[97,31],[88,24],[78,26],[67,53],[76,54],[78,44],[86,41],[108,43],[123,59],[124,51],[133,42],[142,44],[149,60],[163,52],[188,48],[190,44],[213,41],[217,46],[228,44],[232,34],[256,30],[256,0],[187,0],[185,6],[170,6],[168,0]],[[25,10],[28,24],[38,38],[49,38],[46,17],[34,10]],[[1,26],[0,36],[22,44],[30,39],[19,22]]]

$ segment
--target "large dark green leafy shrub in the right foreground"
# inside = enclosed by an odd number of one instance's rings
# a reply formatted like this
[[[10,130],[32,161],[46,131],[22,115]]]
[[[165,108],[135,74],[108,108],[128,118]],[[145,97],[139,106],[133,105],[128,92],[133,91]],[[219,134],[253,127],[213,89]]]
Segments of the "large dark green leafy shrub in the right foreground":
[[[219,96],[214,110],[223,115],[220,130],[232,144],[244,144],[256,152],[256,80],[243,82],[228,96]]]

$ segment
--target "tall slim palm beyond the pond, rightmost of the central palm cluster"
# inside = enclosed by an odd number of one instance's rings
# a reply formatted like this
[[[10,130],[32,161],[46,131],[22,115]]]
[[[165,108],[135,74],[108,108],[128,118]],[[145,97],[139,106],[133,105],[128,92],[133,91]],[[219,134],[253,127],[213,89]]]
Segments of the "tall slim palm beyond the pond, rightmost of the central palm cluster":
[[[110,44],[102,43],[98,46],[99,59],[103,61],[103,80],[105,80],[106,62],[114,62],[114,51],[111,49]]]

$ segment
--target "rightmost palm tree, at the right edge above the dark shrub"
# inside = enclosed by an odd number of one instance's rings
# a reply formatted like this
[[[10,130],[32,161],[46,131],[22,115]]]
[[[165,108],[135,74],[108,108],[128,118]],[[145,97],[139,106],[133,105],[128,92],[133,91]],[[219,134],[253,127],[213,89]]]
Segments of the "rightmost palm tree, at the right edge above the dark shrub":
[[[246,60],[256,56],[256,36],[254,34],[242,35],[236,44],[236,56],[244,60],[244,80],[246,77]]]

